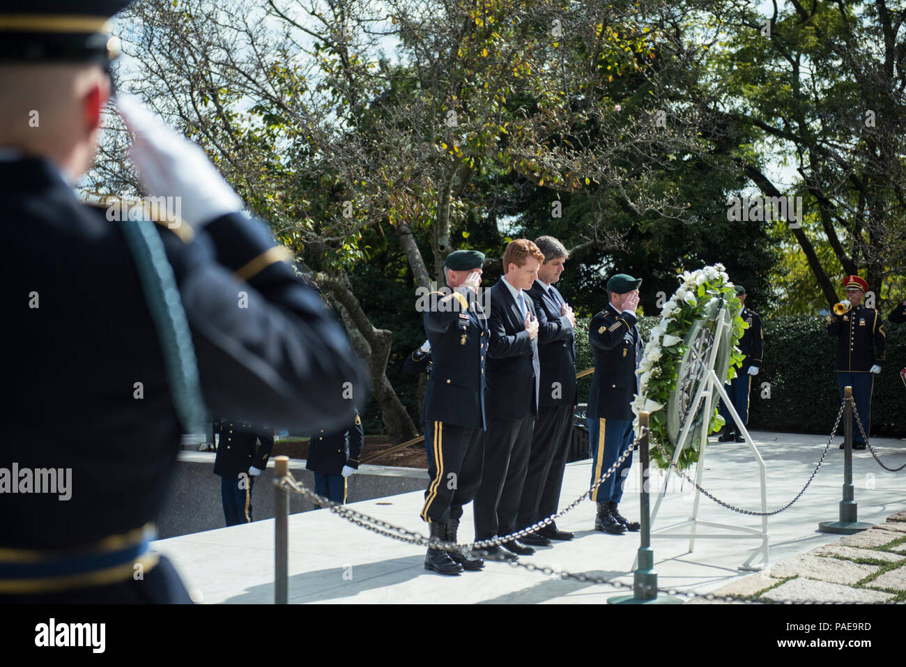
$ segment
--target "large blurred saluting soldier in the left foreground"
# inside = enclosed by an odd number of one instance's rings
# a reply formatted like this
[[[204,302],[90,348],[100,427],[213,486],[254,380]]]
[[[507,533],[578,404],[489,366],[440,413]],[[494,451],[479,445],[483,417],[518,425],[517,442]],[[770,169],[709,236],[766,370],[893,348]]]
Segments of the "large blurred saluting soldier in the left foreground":
[[[111,92],[104,23],[125,3],[58,5],[0,10],[0,341],[16,385],[0,445],[0,602],[189,602],[148,543],[200,399],[256,427],[336,429],[364,383],[288,251],[240,213],[198,146],[137,102],[119,104],[130,157],[182,220],[118,224],[80,201],[72,186]],[[19,472],[15,492],[4,469]],[[35,488],[42,469],[69,470],[71,498]]]

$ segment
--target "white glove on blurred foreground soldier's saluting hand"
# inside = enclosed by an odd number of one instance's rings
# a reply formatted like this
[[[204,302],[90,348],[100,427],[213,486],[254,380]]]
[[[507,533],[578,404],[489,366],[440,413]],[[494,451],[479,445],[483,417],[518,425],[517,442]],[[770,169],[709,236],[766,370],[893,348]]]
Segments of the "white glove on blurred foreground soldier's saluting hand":
[[[242,199],[200,146],[171,130],[132,95],[118,95],[116,105],[134,135],[129,157],[145,194],[178,197],[181,218],[193,227],[242,210]]]

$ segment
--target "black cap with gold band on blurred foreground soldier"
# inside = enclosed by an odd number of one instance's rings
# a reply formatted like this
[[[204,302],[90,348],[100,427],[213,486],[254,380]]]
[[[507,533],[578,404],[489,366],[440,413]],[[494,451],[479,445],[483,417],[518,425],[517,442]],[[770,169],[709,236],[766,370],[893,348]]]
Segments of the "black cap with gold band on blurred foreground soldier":
[[[99,63],[120,54],[110,19],[131,0],[31,0],[0,8],[0,63]]]

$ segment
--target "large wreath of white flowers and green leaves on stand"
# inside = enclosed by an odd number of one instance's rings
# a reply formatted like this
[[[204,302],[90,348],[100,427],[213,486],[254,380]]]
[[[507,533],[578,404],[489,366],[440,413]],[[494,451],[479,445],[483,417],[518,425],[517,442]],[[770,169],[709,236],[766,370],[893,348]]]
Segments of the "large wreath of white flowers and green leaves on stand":
[[[657,461],[661,469],[670,466],[674,448],[679,435],[681,423],[686,419],[698,420],[698,428],[689,431],[683,450],[677,460],[680,469],[688,468],[699,460],[700,434],[704,425],[703,408],[699,414],[682,414],[677,409],[678,396],[685,392],[691,396],[704,378],[704,366],[699,363],[699,374],[689,382],[691,361],[703,359],[710,351],[712,344],[718,350],[718,361],[715,372],[718,378],[729,382],[737,376],[745,355],[739,352],[737,343],[748,324],[739,316],[742,304],[736,295],[733,283],[724,270],[724,266],[705,266],[698,271],[684,272],[679,275],[681,285],[660,311],[660,323],[651,330],[645,353],[636,373],[640,376],[640,389],[632,402],[635,413],[635,432],[639,430],[639,413],[646,411],[650,415],[649,428],[651,439],[660,444],[663,451],[651,447],[651,459]],[[720,303],[721,298],[724,304]],[[716,319],[723,317],[727,324],[725,335],[714,341]],[[732,334],[731,334],[732,332]],[[708,338],[711,335],[712,338]],[[691,354],[691,356],[690,356]],[[679,373],[683,373],[678,387]],[[690,386],[689,386],[690,385]],[[712,414],[708,419],[708,432],[720,430],[724,419],[718,413],[718,396],[712,403]]]

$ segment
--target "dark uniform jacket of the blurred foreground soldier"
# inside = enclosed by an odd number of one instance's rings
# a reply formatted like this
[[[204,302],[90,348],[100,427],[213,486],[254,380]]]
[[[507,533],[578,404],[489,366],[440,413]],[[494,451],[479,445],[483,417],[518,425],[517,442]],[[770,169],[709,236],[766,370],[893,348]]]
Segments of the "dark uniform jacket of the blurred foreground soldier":
[[[229,214],[203,230],[156,227],[209,413],[305,429],[349,423],[365,398],[360,365],[317,293],[271,261],[279,253],[265,225]],[[0,253],[14,388],[0,468],[72,469],[68,501],[4,495],[0,546],[80,546],[155,520],[182,428],[118,223],[83,205],[49,162],[0,160]]]

